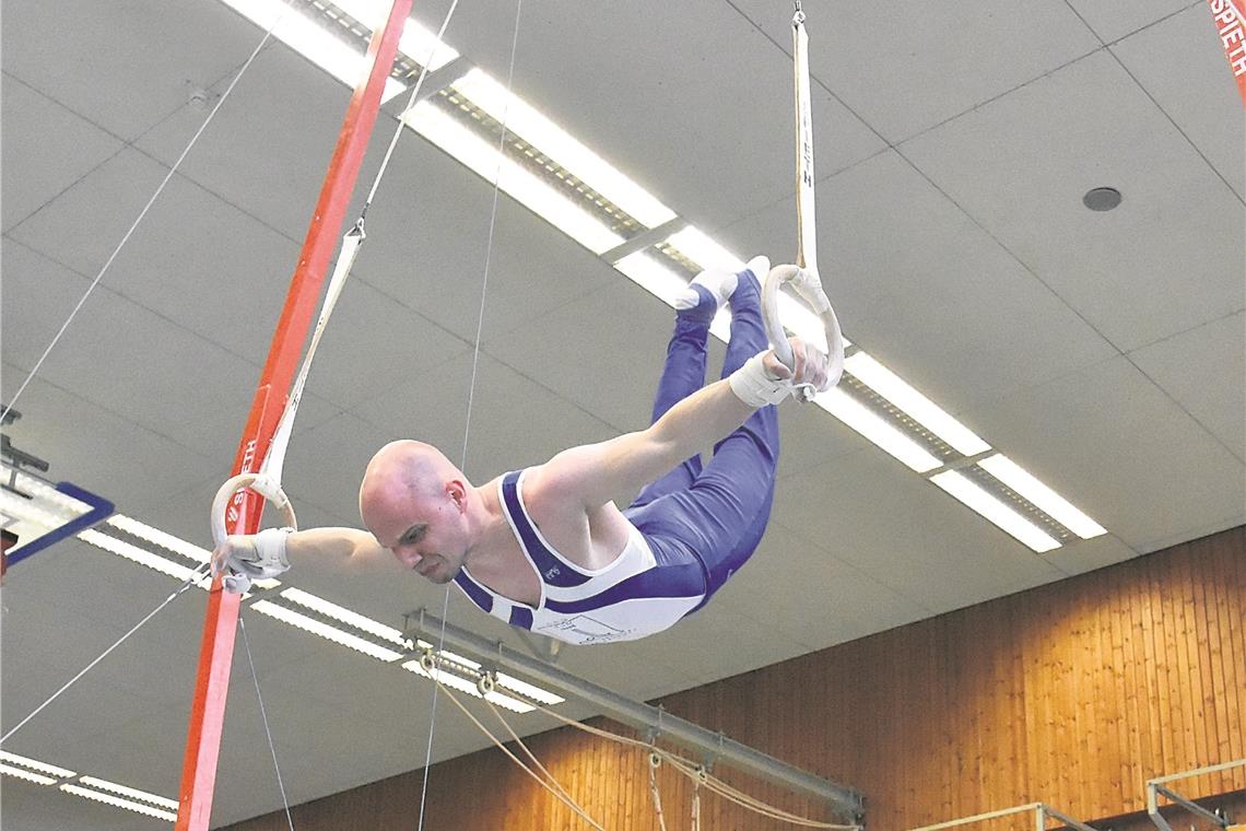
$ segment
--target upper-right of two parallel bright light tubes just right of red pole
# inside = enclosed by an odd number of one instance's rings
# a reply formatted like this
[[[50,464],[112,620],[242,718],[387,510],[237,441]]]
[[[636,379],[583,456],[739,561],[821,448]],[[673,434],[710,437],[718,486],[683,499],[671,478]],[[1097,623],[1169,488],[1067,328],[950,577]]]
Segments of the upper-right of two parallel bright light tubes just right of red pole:
[[[649,196],[644,188],[572,138],[562,127],[520,96],[508,92],[483,70],[473,69],[452,86],[477,107],[506,125],[507,132],[523,138],[645,228],[655,228],[675,218],[674,211]]]

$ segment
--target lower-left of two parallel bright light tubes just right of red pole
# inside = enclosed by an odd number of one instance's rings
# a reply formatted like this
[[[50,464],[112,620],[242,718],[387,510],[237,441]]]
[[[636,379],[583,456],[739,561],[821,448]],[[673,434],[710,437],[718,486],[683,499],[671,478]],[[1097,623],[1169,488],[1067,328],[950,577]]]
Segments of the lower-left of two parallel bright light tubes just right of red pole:
[[[404,117],[409,127],[455,157],[486,182],[497,186],[594,254],[614,248],[623,238],[601,219],[556,191],[548,183],[498,152],[490,143],[431,100],[415,105]]]

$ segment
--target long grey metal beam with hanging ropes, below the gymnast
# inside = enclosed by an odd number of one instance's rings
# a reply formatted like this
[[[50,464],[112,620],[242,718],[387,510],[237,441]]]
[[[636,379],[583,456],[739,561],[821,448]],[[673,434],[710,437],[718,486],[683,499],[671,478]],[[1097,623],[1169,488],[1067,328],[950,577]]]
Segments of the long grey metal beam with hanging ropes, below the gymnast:
[[[431,614],[425,614],[422,610],[407,615],[405,629],[404,637],[412,642],[417,638],[431,643],[444,640],[445,648],[461,652],[473,660],[478,660],[486,668],[505,669],[507,673],[522,675],[530,681],[559,694],[587,701],[616,721],[645,730],[654,739],[660,736],[703,754],[706,762],[726,765],[769,782],[782,785],[797,794],[826,800],[836,814],[852,822],[860,822],[865,816],[865,800],[854,789],[815,776],[760,750],[728,739],[721,733],[713,733],[692,721],[673,716],[662,708],[623,698],[604,686],[598,686],[562,669],[508,649],[500,642],[481,638]],[[1082,831],[1094,830],[1083,826]]]

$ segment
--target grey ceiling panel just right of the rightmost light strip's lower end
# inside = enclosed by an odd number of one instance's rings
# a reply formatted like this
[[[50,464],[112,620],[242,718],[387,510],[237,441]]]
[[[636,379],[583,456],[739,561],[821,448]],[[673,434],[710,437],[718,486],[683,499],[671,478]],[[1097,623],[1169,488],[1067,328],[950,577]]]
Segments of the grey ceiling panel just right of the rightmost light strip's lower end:
[[[1125,358],[982,411],[1013,461],[1150,552],[1246,520],[1241,460]]]

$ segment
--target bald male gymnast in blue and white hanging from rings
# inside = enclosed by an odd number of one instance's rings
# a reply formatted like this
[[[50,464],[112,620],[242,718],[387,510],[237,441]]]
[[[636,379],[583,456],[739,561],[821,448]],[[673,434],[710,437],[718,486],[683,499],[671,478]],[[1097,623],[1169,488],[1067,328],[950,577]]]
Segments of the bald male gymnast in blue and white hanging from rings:
[[[703,607],[756,549],[779,458],[775,406],[826,389],[827,360],[791,339],[789,369],[768,349],[764,257],[739,274],[699,274],[675,302],[675,330],[647,430],[572,447],[473,486],[435,447],[394,441],[359,488],[368,531],[269,528],[231,536],[214,573],[259,579],[308,554],[389,549],[434,583],[454,581],[485,612],[572,644],[634,640]],[[706,340],[731,313],[721,380],[704,386]],[[700,450],[720,439],[703,465]],[[639,495],[625,510],[613,500]]]

